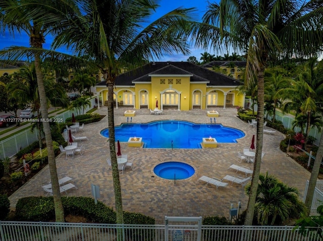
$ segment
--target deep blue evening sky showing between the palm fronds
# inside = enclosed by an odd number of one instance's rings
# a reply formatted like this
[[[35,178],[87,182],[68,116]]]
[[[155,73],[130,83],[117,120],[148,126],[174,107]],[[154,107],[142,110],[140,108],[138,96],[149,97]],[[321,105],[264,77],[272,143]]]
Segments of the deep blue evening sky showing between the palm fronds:
[[[212,1],[211,1],[212,2]],[[218,1],[215,1],[218,2]],[[156,14],[154,14],[154,18],[158,18],[160,16],[163,16],[164,14],[170,12],[171,10],[174,10],[178,7],[185,7],[185,8],[192,8],[195,7],[197,9],[197,14],[199,18],[204,15],[207,7],[207,1],[206,0],[160,0],[159,2],[160,7],[157,9]],[[43,45],[45,49],[50,48],[50,43],[52,41],[51,36],[46,36],[45,38],[46,43]],[[25,46],[29,47],[29,37],[25,34],[15,34],[14,38],[9,35],[8,32],[0,33],[0,49],[4,49],[6,47],[10,46]],[[191,46],[190,48],[191,54],[189,56],[195,56],[197,60],[200,60],[201,53],[203,53],[205,50],[203,49],[196,49],[194,46]],[[65,49],[58,49],[58,51],[66,52]],[[207,52],[211,54],[213,53],[211,50],[207,50]],[[189,56],[184,55],[170,55],[165,56],[161,61],[186,61]]]

